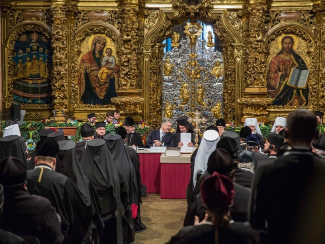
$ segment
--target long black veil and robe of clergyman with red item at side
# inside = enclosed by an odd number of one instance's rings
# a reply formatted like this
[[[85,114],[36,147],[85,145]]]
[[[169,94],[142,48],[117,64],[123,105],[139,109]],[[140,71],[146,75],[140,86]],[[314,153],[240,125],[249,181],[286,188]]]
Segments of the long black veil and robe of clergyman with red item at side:
[[[108,146],[109,152],[114,159],[120,178],[124,178],[125,183],[128,185],[128,200],[130,210],[125,209],[125,217],[128,221],[127,240],[132,241],[135,235],[133,218],[136,218],[138,209],[138,205],[136,205],[138,204],[138,196],[136,191],[137,181],[135,169],[120,135],[110,134],[106,135],[104,139]]]

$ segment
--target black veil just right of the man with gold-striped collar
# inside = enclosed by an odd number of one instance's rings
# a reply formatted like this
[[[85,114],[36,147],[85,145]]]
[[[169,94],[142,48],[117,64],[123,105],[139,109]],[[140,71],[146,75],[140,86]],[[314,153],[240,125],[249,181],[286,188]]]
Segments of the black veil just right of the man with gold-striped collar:
[[[55,171],[71,178],[85,196],[84,203],[89,206],[90,193],[88,179],[82,173],[77,155],[75,153],[75,143],[72,141],[59,141],[58,155],[56,159]]]

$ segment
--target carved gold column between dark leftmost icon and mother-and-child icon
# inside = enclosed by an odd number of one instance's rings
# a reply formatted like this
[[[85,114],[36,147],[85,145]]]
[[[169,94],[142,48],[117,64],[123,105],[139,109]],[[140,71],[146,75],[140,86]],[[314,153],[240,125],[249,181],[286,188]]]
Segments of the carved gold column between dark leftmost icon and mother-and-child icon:
[[[67,112],[67,27],[65,0],[52,0],[52,65],[51,83],[53,107],[56,109],[56,120],[64,120],[61,110]]]

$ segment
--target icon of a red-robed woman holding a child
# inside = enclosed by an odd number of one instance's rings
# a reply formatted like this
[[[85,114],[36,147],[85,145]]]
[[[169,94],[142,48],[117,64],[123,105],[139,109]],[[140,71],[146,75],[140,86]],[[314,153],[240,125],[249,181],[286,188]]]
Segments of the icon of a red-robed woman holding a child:
[[[83,104],[107,105],[117,97],[119,58],[109,37],[92,35],[81,43],[79,56],[79,100]]]

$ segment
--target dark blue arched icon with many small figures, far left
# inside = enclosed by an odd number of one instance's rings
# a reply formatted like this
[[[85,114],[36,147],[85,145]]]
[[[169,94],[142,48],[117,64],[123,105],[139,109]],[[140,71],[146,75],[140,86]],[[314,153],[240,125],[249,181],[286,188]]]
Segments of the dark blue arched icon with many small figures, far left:
[[[50,104],[50,41],[40,33],[25,33],[18,37],[14,49],[13,100],[27,104]]]

